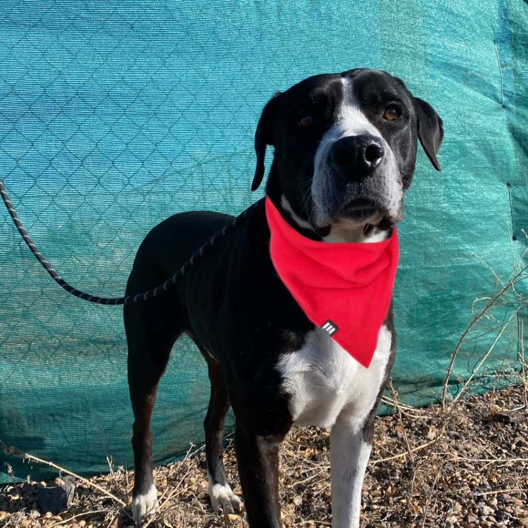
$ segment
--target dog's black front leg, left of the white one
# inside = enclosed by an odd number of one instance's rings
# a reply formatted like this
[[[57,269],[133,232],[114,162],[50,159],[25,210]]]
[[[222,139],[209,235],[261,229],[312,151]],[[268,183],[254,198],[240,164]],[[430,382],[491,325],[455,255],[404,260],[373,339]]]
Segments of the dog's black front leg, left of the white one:
[[[282,440],[282,435],[258,434],[237,422],[234,446],[250,528],[280,528],[279,446]]]

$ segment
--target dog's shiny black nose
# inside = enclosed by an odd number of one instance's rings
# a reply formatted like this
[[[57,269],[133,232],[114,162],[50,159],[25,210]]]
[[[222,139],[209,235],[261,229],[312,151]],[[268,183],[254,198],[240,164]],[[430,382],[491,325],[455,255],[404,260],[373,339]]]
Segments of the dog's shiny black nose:
[[[362,180],[374,171],[384,155],[383,145],[374,136],[348,136],[332,145],[330,163],[345,178]]]

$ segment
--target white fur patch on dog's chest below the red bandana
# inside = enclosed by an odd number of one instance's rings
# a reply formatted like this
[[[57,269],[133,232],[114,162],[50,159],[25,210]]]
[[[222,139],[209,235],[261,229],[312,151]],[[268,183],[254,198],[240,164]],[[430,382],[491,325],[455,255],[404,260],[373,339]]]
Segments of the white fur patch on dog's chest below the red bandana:
[[[366,417],[383,381],[391,340],[383,325],[368,369],[320,328],[307,334],[303,348],[282,356],[277,369],[295,425],[331,427],[341,412]]]

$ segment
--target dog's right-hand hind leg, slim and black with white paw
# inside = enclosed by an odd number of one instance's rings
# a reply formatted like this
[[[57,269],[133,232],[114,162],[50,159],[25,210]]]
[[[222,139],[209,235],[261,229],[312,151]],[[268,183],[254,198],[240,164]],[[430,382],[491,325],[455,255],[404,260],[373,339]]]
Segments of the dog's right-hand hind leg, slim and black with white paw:
[[[242,502],[232,492],[223,464],[224,419],[230,405],[228,391],[216,360],[203,350],[202,353],[208,363],[211,382],[209,408],[203,424],[209,496],[215,512],[221,507],[224,513],[235,513],[240,511]]]

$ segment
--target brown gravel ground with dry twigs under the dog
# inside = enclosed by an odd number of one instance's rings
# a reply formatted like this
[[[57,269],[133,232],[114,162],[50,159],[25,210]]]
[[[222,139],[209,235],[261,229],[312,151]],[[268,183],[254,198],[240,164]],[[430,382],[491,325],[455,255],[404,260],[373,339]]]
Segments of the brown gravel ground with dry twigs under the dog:
[[[392,416],[378,418],[363,484],[362,527],[528,528],[525,410],[524,384],[449,407],[397,405]],[[240,494],[231,445],[225,466]],[[163,495],[149,526],[247,526],[243,513],[229,518],[213,513],[201,450],[155,473]],[[122,468],[90,478],[100,491],[76,480],[71,503],[58,515],[42,511],[37,495],[63,484],[60,479],[0,487],[0,527],[131,526],[133,478]],[[281,450],[280,479],[284,528],[330,526],[329,430],[294,429]]]

